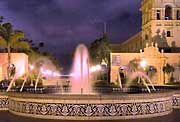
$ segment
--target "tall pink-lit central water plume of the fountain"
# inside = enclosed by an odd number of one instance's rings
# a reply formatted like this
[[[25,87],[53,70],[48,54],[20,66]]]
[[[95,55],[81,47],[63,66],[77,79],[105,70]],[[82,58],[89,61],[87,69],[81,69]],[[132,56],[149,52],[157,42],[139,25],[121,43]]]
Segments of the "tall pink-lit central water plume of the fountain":
[[[71,73],[71,93],[72,94],[90,94],[91,83],[89,70],[88,49],[84,44],[79,44],[74,55],[74,62]]]

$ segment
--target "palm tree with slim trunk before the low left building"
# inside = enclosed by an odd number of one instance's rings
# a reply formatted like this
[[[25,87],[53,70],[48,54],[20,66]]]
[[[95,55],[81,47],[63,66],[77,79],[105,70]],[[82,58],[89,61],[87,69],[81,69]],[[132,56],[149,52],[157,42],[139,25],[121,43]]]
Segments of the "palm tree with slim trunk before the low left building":
[[[22,31],[13,30],[11,23],[4,23],[0,25],[0,46],[7,50],[8,67],[11,64],[12,49],[30,49],[29,43],[20,40],[22,38],[24,38],[24,33]],[[7,73],[9,74],[9,72],[10,69],[7,68]],[[8,80],[10,80],[9,75]]]

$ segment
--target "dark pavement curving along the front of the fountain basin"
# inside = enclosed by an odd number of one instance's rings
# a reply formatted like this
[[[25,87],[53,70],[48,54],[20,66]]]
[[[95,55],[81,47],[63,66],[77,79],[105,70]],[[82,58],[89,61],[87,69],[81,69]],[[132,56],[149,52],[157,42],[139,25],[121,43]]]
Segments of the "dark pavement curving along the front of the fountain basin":
[[[4,112],[0,112],[0,122],[72,122],[72,121],[26,118],[21,116],[15,116],[4,111]],[[89,122],[89,121],[83,121],[83,122]],[[111,121],[93,121],[93,122],[111,122]],[[180,122],[180,109],[174,110],[173,113],[162,117],[134,119],[134,120],[117,120],[112,122]]]

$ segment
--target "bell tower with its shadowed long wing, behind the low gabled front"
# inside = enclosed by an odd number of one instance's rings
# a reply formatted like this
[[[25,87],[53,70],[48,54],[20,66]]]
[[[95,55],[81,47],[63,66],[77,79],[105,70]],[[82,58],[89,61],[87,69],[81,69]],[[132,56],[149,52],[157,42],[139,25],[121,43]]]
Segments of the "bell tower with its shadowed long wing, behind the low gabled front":
[[[154,42],[160,48],[171,48],[170,52],[180,52],[180,0],[142,0],[140,10],[142,31],[121,43],[120,51],[137,53]]]

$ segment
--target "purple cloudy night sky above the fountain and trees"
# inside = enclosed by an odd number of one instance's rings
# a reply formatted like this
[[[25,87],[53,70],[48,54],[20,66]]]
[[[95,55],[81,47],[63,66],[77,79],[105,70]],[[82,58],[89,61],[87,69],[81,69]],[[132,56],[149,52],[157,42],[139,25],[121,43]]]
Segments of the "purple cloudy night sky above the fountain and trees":
[[[0,0],[0,16],[66,65],[78,43],[89,46],[102,35],[104,22],[112,43],[140,31],[140,6],[141,0]]]

